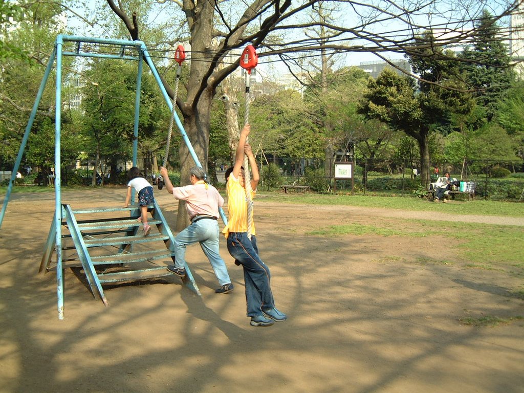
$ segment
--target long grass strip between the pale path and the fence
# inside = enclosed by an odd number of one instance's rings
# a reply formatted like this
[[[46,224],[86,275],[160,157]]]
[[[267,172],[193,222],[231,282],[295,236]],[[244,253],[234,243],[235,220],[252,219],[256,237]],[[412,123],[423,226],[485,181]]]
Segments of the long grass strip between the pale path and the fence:
[[[262,198],[261,198],[262,197]],[[509,217],[524,217],[524,203],[475,200],[470,202],[456,201],[454,203],[431,203],[427,199],[414,196],[369,196],[341,194],[283,194],[281,192],[259,192],[257,202],[285,202],[313,205],[347,205],[365,206],[368,208],[383,208],[410,211],[430,211],[435,213],[469,214],[469,215],[499,215]]]

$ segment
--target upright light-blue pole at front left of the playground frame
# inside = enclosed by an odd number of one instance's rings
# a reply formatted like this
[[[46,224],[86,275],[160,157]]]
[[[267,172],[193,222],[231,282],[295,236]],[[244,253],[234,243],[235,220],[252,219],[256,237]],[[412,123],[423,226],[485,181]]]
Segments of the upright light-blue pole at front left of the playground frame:
[[[60,159],[60,123],[62,118],[62,36],[57,37],[57,91],[54,115],[54,226],[56,228],[57,247],[57,294],[58,318],[64,319],[63,276],[62,276],[62,199],[61,199],[61,159]]]

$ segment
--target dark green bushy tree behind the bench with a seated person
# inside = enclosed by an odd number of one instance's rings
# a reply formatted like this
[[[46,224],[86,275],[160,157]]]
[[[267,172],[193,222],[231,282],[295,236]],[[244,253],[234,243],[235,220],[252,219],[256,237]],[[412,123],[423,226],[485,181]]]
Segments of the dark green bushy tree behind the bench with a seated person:
[[[447,56],[451,56],[450,53]],[[468,114],[473,102],[464,92],[457,63],[431,55],[410,59],[418,82],[384,70],[370,80],[359,112],[401,130],[418,142],[421,182],[429,181],[429,137],[432,131],[449,128],[452,114]]]

